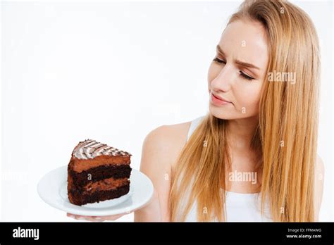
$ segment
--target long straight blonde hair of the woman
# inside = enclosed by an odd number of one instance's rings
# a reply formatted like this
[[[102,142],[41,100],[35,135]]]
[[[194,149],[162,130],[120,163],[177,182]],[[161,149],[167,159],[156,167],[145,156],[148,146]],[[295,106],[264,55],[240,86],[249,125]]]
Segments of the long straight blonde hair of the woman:
[[[261,213],[268,201],[274,221],[314,221],[320,73],[316,30],[307,13],[287,1],[245,1],[229,23],[235,20],[264,26],[266,74],[295,73],[295,84],[269,82],[266,77],[261,88],[259,125],[252,139],[260,152]],[[171,176],[171,221],[185,220],[195,200],[197,220],[226,220],[227,124],[208,113],[183,147]]]

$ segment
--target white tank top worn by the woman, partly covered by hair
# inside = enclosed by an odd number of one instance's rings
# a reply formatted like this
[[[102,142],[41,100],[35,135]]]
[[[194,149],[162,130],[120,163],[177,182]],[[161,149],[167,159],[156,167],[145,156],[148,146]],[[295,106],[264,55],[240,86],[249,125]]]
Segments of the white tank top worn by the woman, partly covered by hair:
[[[192,132],[202,121],[204,116],[192,120],[189,132],[187,134],[187,139],[190,138]],[[268,207],[265,208],[265,213],[261,215],[261,195],[260,194],[245,194],[237,193],[232,191],[225,191],[225,206],[226,206],[226,221],[228,222],[269,222],[272,221],[270,215],[268,214]],[[188,194],[189,195],[189,194]],[[185,205],[185,203],[183,203]],[[185,219],[187,222],[197,221],[197,201],[187,214]],[[217,221],[213,219],[212,221]]]

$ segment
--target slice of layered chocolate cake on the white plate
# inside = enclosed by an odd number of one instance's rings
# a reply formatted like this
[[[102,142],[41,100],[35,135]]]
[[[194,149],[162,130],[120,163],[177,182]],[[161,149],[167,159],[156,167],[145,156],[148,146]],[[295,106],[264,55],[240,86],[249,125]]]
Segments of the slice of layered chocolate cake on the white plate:
[[[83,205],[116,199],[130,189],[130,157],[126,151],[92,139],[79,142],[68,164],[68,199]]]

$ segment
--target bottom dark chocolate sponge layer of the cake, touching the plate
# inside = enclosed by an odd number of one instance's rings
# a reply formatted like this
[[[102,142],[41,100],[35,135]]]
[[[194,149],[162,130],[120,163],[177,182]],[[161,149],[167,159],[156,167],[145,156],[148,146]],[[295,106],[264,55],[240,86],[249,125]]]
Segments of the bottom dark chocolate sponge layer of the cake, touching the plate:
[[[81,206],[87,203],[95,203],[99,201],[106,201],[109,199],[116,199],[120,196],[128,194],[129,190],[130,190],[129,185],[123,185],[116,189],[109,189],[106,191],[95,191],[92,194],[72,191],[70,194],[68,194],[68,198],[70,199],[71,203]]]

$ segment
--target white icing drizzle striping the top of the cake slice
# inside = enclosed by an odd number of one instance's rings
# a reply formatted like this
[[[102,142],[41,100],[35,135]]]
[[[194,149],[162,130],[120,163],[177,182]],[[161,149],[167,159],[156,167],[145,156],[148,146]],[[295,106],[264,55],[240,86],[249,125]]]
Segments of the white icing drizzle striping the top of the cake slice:
[[[119,149],[106,144],[101,144],[92,139],[86,139],[84,142],[79,142],[79,144],[75,146],[72,155],[79,159],[92,159],[101,155],[132,156],[126,151],[120,151]]]

